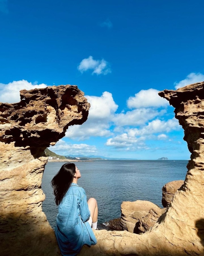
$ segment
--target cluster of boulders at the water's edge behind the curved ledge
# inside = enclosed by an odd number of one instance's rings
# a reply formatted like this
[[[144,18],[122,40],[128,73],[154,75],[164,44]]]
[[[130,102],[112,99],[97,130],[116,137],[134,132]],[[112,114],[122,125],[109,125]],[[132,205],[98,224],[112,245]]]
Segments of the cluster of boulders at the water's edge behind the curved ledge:
[[[168,182],[162,187],[162,205],[160,208],[149,201],[124,201],[121,204],[121,218],[105,222],[100,229],[127,230],[135,234],[143,234],[158,221],[171,203],[175,193],[184,184],[184,180]]]

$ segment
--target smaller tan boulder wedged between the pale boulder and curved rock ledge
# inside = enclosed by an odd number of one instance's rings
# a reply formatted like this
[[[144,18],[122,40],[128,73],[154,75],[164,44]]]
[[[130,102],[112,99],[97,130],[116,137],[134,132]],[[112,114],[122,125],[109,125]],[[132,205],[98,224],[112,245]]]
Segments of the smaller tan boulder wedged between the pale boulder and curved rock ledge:
[[[147,216],[139,220],[137,224],[138,234],[148,231],[158,221],[158,218],[165,212],[166,208],[151,208]]]

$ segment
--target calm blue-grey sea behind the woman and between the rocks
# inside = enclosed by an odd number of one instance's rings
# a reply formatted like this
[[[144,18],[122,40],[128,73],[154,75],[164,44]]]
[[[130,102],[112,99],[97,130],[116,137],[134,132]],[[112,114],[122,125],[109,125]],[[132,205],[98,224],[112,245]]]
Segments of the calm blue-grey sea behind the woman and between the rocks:
[[[81,173],[78,185],[84,187],[87,199],[98,202],[98,222],[120,217],[122,201],[147,200],[162,207],[162,187],[169,181],[185,179],[188,160],[101,160],[74,162]],[[42,203],[50,226],[54,228],[58,207],[50,181],[64,162],[48,162],[42,177],[46,196]]]

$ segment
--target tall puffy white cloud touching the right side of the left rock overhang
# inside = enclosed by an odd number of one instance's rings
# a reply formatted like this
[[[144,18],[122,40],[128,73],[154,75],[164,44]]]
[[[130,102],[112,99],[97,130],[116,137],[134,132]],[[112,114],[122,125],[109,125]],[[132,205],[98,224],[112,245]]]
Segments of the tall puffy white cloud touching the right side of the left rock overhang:
[[[111,121],[118,105],[114,102],[110,92],[103,92],[100,97],[85,96],[90,102],[88,120],[82,125],[71,126],[66,132],[66,137],[71,139],[88,139],[90,136],[107,137]]]

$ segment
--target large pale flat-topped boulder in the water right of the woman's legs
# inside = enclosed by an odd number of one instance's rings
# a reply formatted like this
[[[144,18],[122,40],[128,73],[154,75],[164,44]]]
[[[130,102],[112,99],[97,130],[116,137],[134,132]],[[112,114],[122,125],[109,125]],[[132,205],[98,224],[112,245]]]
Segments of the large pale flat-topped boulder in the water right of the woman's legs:
[[[122,202],[120,225],[123,230],[137,233],[137,226],[135,224],[145,217],[151,208],[158,209],[159,207],[149,201]]]

